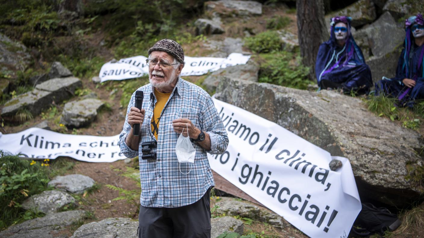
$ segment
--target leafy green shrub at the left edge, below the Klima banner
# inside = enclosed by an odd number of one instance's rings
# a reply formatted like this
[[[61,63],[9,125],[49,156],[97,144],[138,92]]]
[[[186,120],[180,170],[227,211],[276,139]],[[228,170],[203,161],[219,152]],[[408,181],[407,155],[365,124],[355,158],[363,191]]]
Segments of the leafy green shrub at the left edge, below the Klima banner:
[[[41,162],[20,159],[0,151],[0,230],[33,214],[21,207],[28,196],[47,188],[48,177]]]

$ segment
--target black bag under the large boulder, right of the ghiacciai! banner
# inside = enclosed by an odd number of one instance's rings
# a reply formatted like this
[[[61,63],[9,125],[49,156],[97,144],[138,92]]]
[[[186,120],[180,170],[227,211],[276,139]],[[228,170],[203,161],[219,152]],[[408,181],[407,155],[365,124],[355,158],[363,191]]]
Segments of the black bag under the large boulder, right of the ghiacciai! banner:
[[[400,224],[401,221],[396,214],[391,213],[387,208],[376,208],[371,203],[363,203],[362,210],[354,222],[352,231],[361,236],[367,236],[375,232],[383,235],[385,231],[396,230]]]

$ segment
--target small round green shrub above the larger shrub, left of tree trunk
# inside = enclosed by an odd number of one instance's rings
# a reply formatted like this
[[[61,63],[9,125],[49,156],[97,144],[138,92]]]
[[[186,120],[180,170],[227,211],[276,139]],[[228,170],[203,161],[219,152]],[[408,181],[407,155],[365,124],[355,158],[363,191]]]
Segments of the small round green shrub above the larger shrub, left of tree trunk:
[[[264,31],[245,39],[245,46],[256,53],[281,50],[281,43],[279,33],[272,30]]]

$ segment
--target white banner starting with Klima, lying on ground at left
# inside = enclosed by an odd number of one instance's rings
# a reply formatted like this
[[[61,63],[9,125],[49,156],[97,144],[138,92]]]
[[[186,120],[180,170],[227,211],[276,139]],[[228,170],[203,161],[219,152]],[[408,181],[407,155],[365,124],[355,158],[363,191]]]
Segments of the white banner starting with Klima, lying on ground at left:
[[[0,133],[0,149],[33,159],[69,156],[87,162],[113,162],[126,158],[119,148],[119,135],[69,135],[37,127],[14,134]]]

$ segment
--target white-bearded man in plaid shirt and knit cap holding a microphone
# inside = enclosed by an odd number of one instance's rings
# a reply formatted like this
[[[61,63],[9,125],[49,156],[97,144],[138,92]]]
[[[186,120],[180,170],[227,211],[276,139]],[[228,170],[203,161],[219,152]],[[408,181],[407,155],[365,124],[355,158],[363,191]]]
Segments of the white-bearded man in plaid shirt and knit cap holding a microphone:
[[[134,106],[134,92],[120,133],[121,152],[139,156],[139,238],[210,237],[215,183],[206,152],[225,152],[226,130],[209,94],[179,77],[180,44],[162,39],[148,55],[150,83],[137,89],[145,95],[142,109]]]

